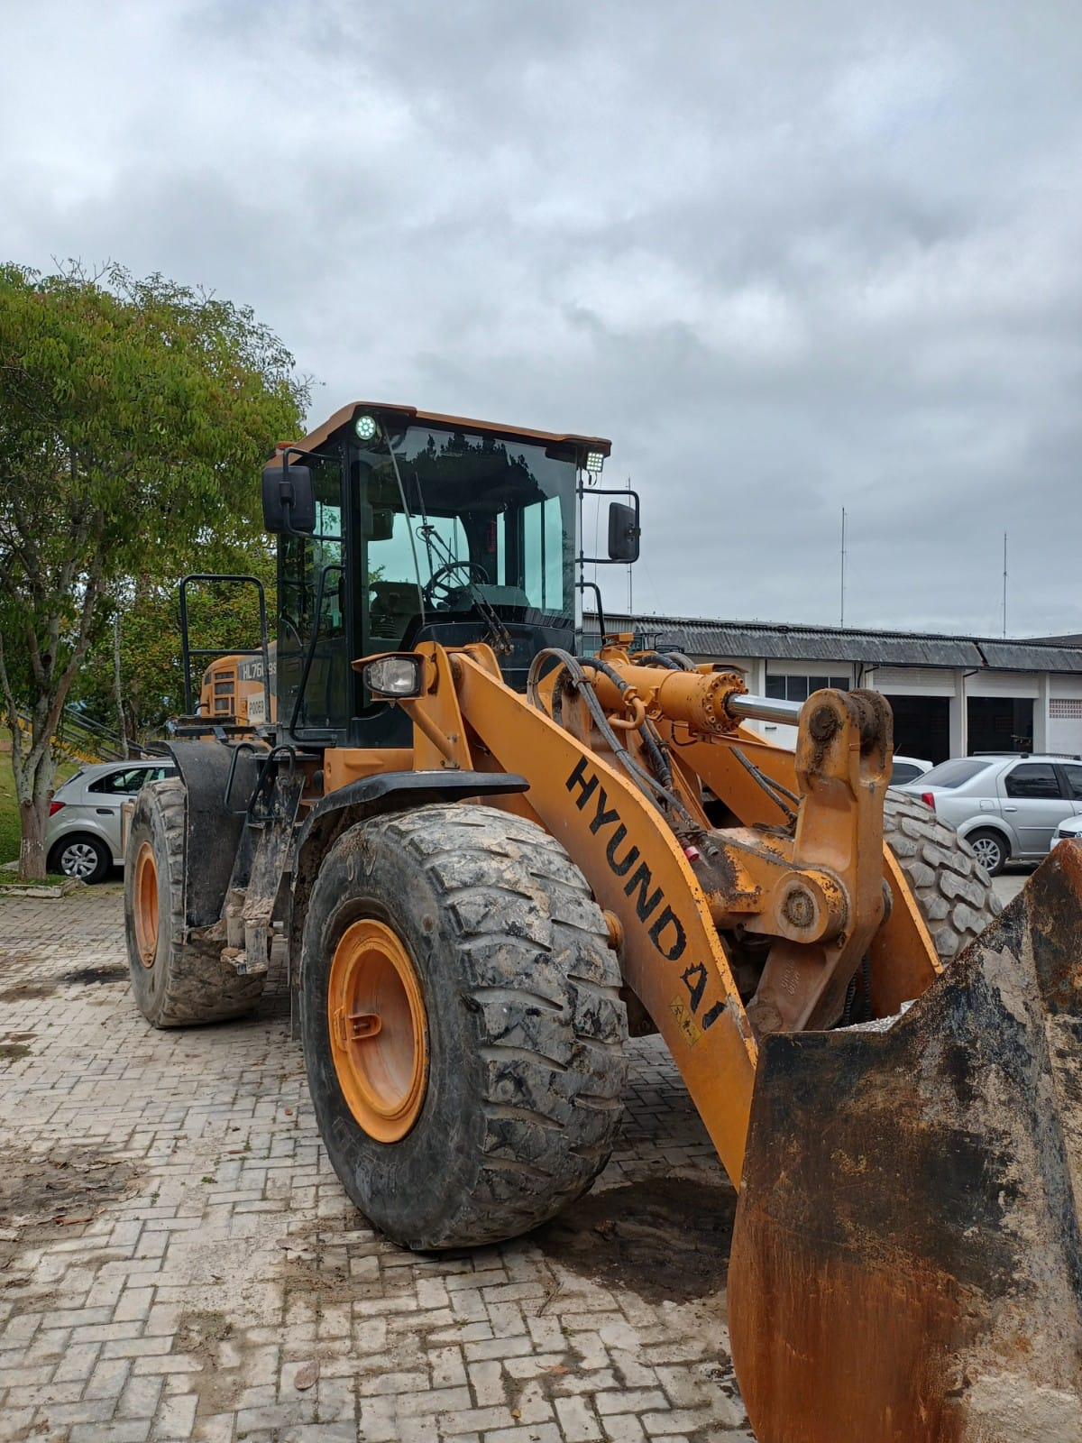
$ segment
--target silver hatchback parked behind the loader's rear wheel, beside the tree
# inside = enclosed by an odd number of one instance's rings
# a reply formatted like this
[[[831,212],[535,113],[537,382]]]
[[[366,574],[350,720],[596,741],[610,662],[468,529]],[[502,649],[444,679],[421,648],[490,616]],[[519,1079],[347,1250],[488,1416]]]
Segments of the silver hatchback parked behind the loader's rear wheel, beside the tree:
[[[102,882],[123,866],[120,808],[146,782],[175,776],[167,759],[89,762],[58,786],[49,805],[45,851],[49,872],[82,882]]]

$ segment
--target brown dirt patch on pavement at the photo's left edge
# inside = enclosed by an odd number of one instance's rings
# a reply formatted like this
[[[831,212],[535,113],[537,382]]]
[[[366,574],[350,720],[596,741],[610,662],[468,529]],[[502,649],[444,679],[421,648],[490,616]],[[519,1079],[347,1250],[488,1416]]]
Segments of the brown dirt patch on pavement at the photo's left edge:
[[[72,1147],[48,1157],[0,1149],[0,1296],[26,1281],[13,1271],[32,1247],[71,1237],[138,1180],[134,1163]]]

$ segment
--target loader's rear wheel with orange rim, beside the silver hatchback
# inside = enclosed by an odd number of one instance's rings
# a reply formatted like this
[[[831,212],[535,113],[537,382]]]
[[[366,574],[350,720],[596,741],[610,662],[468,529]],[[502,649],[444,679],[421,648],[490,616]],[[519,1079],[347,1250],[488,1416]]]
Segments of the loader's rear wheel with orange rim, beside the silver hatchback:
[[[179,776],[143,788],[124,861],[124,934],[131,990],[154,1027],[238,1017],[260,1000],[265,977],[238,977],[222,962],[221,944],[185,941],[186,827],[188,794]]]

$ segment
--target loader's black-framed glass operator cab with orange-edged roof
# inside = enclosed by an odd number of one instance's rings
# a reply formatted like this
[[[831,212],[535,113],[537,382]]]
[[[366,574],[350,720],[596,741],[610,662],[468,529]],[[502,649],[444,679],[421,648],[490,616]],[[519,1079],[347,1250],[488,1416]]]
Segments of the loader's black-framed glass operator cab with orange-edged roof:
[[[263,482],[280,535],[280,736],[408,745],[405,716],[351,667],[361,657],[488,642],[508,685],[525,690],[538,651],[573,651],[580,476],[609,450],[597,436],[371,403],[280,447]]]

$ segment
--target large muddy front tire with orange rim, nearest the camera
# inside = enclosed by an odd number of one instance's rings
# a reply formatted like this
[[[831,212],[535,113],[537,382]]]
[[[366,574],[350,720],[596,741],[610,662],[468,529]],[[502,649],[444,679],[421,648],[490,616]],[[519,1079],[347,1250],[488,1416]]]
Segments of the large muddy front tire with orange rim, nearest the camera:
[[[342,1007],[364,947],[369,980]],[[395,1242],[453,1248],[515,1237],[586,1192],[623,1111],[619,986],[581,873],[534,823],[433,805],[339,837],[304,922],[302,1027],[351,1201]],[[374,1022],[381,996],[395,1006]],[[391,1140],[362,1126],[358,1091]]]

